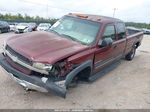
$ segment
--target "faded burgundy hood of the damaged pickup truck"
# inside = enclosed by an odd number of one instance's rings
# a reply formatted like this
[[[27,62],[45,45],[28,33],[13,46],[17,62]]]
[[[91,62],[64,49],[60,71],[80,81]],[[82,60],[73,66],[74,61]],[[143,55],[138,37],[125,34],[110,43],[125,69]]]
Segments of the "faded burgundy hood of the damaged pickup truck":
[[[35,62],[55,63],[88,46],[50,32],[32,32],[11,37],[7,45]]]

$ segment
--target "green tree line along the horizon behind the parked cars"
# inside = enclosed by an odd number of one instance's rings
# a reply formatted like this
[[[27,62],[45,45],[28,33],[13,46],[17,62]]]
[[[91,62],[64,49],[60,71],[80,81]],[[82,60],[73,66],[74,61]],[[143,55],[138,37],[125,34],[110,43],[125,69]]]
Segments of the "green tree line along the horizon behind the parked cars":
[[[56,18],[43,18],[43,17],[40,17],[40,16],[29,16],[27,14],[16,14],[16,15],[12,15],[11,13],[6,13],[6,14],[1,14],[0,13],[0,20],[24,20],[24,21],[43,21],[43,22],[56,22],[58,19]],[[133,26],[133,27],[136,27],[136,28],[147,28],[147,29],[150,29],[150,23],[147,24],[147,23],[135,23],[135,22],[126,22],[125,23],[126,26]]]

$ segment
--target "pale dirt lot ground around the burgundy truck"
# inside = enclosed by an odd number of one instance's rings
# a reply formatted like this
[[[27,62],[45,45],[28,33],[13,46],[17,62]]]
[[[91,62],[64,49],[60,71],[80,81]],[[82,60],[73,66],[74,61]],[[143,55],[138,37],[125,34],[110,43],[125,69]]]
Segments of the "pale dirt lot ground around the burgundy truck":
[[[0,46],[12,35],[15,34],[0,34]],[[26,92],[0,68],[0,108],[150,109],[150,36],[144,36],[133,61],[122,60],[116,69],[94,83],[69,89],[66,99],[53,94]]]

